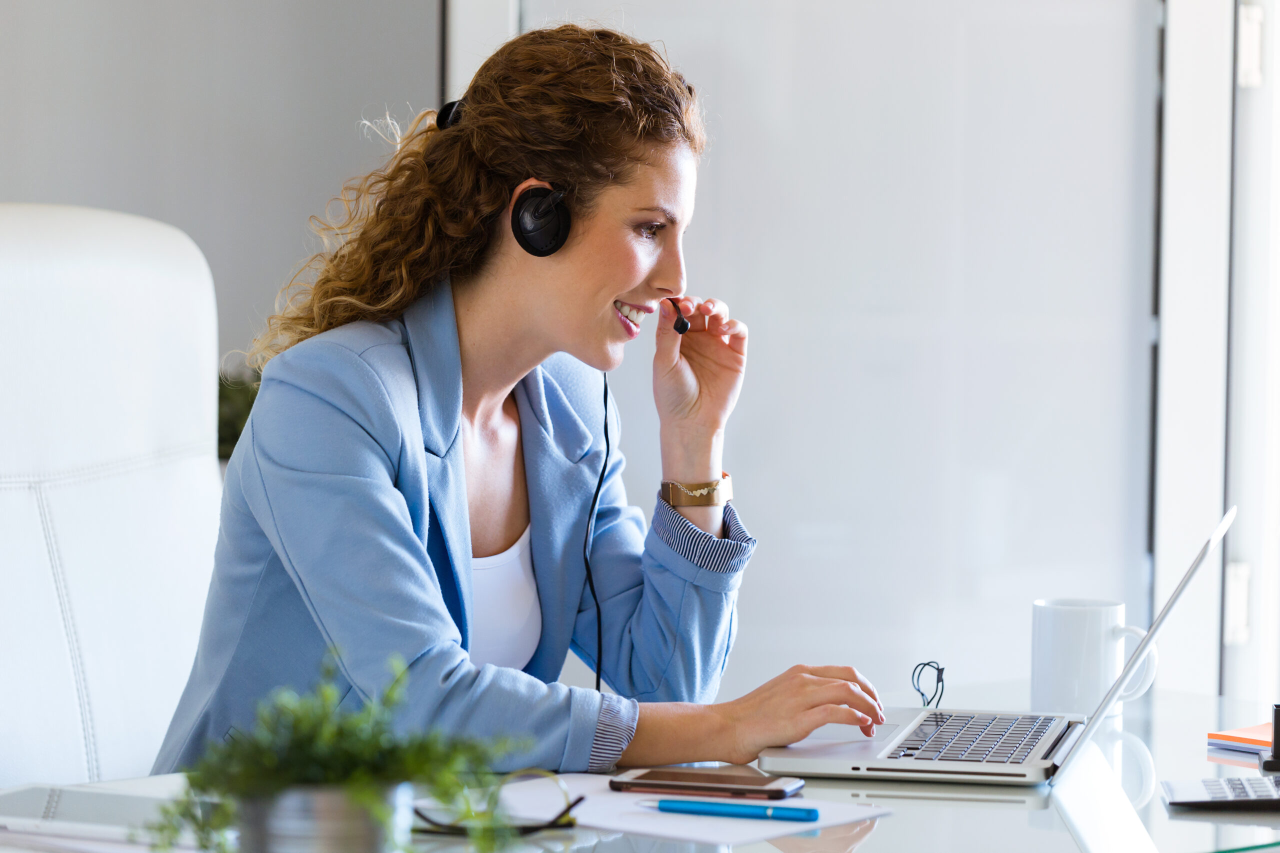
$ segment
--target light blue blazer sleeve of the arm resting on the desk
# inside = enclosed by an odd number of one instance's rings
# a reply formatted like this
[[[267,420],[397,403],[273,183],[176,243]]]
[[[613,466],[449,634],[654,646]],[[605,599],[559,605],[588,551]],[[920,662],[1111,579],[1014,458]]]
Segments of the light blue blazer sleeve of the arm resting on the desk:
[[[462,649],[396,488],[404,437],[378,373],[330,342],[292,356],[264,371],[247,426],[244,498],[353,693],[381,690],[398,653],[408,662],[404,730],[520,742],[499,768],[586,770],[599,693],[477,667]]]

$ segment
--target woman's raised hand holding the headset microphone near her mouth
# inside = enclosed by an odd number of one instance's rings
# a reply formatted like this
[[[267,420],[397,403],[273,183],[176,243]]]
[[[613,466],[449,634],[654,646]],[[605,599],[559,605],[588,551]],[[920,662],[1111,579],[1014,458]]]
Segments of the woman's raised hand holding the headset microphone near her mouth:
[[[746,324],[731,319],[728,306],[719,300],[685,296],[677,301],[689,332],[676,334],[675,309],[662,300],[653,396],[663,433],[696,442],[722,433],[737,403],[746,370]]]

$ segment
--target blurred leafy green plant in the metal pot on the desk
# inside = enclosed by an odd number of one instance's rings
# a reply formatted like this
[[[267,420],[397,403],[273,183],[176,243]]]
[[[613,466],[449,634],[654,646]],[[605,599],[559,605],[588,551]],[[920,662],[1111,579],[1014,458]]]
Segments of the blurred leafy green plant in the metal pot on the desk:
[[[357,712],[339,710],[332,665],[311,693],[271,693],[259,704],[251,733],[210,744],[191,768],[187,793],[147,826],[152,849],[173,848],[189,829],[200,849],[229,853],[225,830],[236,825],[237,802],[271,798],[296,785],[340,785],[385,824],[385,792],[406,781],[448,807],[481,848],[500,844],[509,834],[494,798],[476,809],[468,789],[493,789],[489,766],[502,745],[435,733],[397,735],[392,710],[403,695],[404,671],[403,661],[394,658],[390,685]]]

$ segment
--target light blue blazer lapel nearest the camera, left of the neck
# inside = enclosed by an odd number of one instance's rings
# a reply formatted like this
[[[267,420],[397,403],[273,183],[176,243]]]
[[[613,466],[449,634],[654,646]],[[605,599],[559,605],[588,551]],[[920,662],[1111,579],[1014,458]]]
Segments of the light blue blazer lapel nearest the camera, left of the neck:
[[[461,612],[453,613],[462,648],[471,647],[471,521],[458,425],[462,419],[462,360],[448,280],[431,288],[404,311],[410,361],[417,383],[422,421],[426,491],[444,533],[449,570]],[[442,574],[443,566],[435,566]],[[444,578],[440,578],[442,584]]]

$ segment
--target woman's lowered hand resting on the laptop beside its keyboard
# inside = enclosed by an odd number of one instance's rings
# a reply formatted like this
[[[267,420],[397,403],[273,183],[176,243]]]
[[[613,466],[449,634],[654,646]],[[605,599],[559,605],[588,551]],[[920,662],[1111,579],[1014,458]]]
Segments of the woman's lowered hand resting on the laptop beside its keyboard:
[[[870,738],[884,722],[876,688],[851,666],[792,666],[732,702],[710,706],[723,722],[719,760],[745,765],[769,747],[803,740],[828,722]]]

